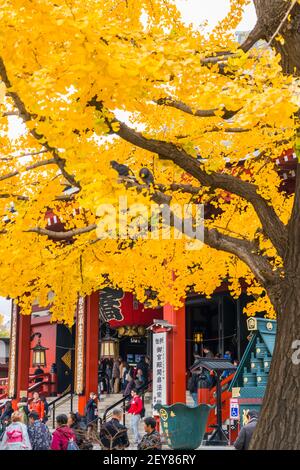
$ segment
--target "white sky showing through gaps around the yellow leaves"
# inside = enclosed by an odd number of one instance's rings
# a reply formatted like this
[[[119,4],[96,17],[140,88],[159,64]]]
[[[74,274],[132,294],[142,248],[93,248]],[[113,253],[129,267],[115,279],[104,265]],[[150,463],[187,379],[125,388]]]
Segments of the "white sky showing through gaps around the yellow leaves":
[[[176,0],[176,3],[184,21],[198,26],[207,20],[208,30],[212,29],[228,13],[230,6],[230,0]],[[251,2],[245,9],[244,17],[238,30],[249,31],[253,28],[255,22],[255,9]],[[0,297],[0,313],[4,314],[6,319],[9,319],[10,311],[10,301]]]

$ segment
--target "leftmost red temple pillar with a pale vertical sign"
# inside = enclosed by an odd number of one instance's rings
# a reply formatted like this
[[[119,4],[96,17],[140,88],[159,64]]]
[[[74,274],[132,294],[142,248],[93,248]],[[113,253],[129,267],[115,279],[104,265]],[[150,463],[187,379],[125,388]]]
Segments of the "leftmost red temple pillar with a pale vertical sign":
[[[31,315],[21,315],[16,304],[12,304],[10,356],[8,371],[8,397],[13,407],[26,396],[29,385]]]

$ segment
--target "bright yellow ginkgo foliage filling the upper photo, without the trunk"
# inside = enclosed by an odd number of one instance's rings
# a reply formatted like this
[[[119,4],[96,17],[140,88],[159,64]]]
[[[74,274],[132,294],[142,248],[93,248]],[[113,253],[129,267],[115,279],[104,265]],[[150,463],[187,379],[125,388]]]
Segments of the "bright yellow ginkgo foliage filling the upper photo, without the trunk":
[[[268,297],[260,297],[264,289],[230,253],[207,245],[191,250],[188,240],[175,236],[99,240],[91,230],[70,243],[30,231],[49,229],[51,213],[63,224],[57,230],[96,225],[103,204],[119,217],[124,196],[130,207],[150,208],[151,191],[126,189],[111,168],[116,160],[137,179],[142,167],[151,170],[173,203],[210,204],[215,215],[206,227],[256,239],[274,270],[281,268],[252,205],[204,186],[196,196],[171,189],[201,185],[171,161],[119,138],[120,123],[113,121],[117,116],[149,139],[201,156],[208,174],[238,173],[257,185],[286,224],[293,197],[280,189],[275,161],[293,146],[296,85],[273,51],[238,49],[232,30],[247,3],[232,0],[229,14],[206,35],[184,24],[171,0],[1,2],[0,295],[18,299],[23,313],[36,299],[47,305],[52,292],[53,320],[72,324],[78,295],[107,285],[134,291],[141,302],[150,292],[153,305],[179,306],[188,292],[210,296],[227,280],[232,295],[239,295],[243,281],[257,299],[248,314],[264,311],[273,318]],[[203,65],[220,51],[233,54],[224,74],[217,63]],[[168,99],[190,112],[160,105]],[[215,113],[202,118],[199,109]],[[225,109],[237,112],[223,119]],[[68,175],[80,186],[69,198]]]

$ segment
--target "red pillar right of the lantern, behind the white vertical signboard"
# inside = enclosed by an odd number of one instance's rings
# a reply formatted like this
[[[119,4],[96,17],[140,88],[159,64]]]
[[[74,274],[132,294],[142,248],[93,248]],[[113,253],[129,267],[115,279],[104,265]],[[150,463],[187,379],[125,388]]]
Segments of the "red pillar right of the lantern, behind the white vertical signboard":
[[[168,404],[186,402],[185,307],[164,306],[164,320],[173,328],[168,333]]]

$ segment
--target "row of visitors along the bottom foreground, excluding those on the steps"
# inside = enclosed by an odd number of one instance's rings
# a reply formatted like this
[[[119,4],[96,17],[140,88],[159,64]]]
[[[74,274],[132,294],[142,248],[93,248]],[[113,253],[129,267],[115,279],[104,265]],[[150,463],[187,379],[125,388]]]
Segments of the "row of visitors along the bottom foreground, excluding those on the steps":
[[[47,426],[44,401],[38,393],[28,404],[25,399],[13,410],[8,401],[1,415],[0,450],[92,450],[95,444],[102,449],[126,449],[130,446],[127,428],[121,424],[122,410],[116,408],[112,418],[97,430],[97,395],[90,394],[85,416],[78,413],[60,414],[56,417],[53,433]],[[160,434],[156,431],[156,421],[145,418],[143,438],[139,433],[139,423],[143,417],[142,399],[136,390],[131,391],[127,413],[131,416],[131,428],[136,448],[140,450],[161,449]]]

